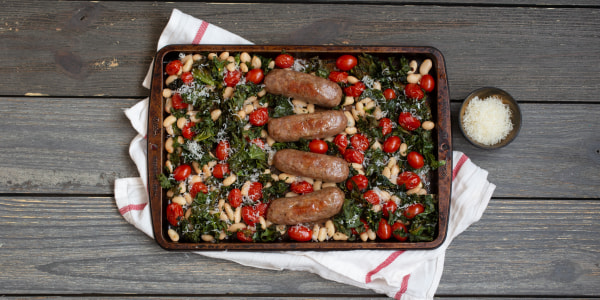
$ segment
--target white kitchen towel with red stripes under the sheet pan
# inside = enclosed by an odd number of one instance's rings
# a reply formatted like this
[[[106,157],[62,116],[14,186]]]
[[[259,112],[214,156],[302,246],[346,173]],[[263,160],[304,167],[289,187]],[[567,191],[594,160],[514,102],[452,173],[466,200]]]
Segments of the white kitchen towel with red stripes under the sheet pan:
[[[168,44],[249,44],[247,40],[179,10],[160,36],[158,49]],[[150,67],[152,69],[152,67]],[[148,87],[148,78],[144,86]],[[136,228],[153,237],[146,182],[146,120],[148,99],[125,111],[138,132],[129,153],[142,177],[115,180],[119,212]],[[440,282],[445,251],[454,237],[478,221],[496,186],[488,172],[464,153],[453,152],[450,220],[445,242],[433,250],[352,250],[284,252],[195,252],[246,266],[272,270],[308,271],[323,278],[371,289],[395,299],[432,299]]]

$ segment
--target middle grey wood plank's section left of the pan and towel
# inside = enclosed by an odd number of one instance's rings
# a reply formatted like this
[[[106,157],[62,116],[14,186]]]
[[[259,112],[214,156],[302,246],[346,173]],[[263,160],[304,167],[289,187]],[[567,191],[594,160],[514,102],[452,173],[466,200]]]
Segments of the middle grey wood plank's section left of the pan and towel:
[[[0,191],[110,194],[115,178],[139,176],[123,113],[137,101],[2,98]]]

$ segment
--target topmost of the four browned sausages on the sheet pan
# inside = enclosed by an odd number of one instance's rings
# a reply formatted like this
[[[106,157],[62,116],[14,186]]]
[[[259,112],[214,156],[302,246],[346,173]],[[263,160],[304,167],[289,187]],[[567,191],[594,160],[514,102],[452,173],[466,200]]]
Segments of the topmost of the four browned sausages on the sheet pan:
[[[265,90],[271,94],[304,100],[322,107],[334,107],[342,101],[342,88],[335,82],[308,73],[274,69],[265,76]]]

